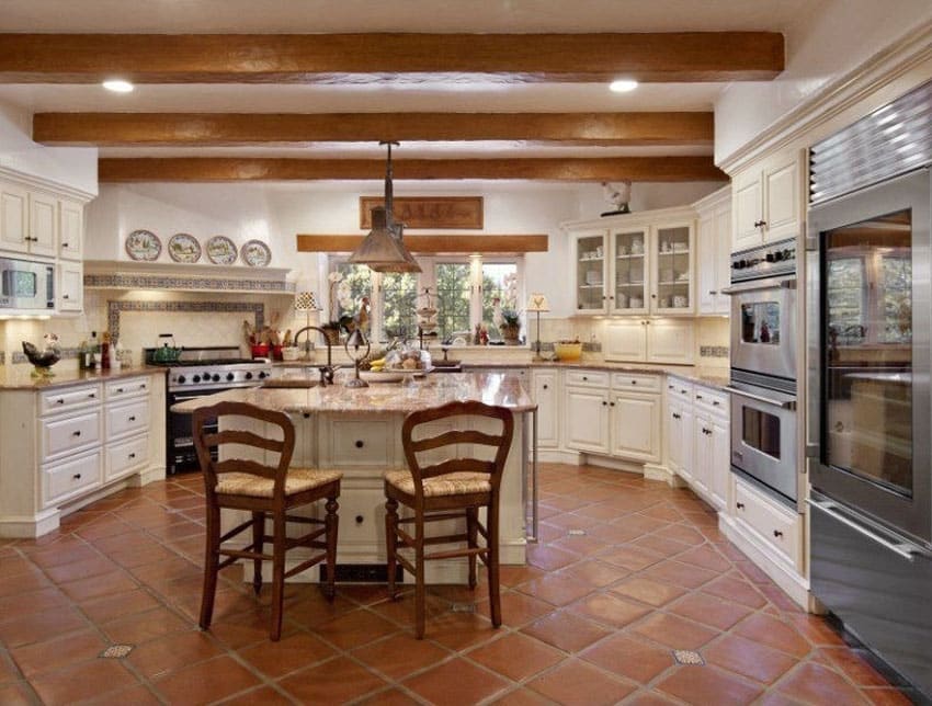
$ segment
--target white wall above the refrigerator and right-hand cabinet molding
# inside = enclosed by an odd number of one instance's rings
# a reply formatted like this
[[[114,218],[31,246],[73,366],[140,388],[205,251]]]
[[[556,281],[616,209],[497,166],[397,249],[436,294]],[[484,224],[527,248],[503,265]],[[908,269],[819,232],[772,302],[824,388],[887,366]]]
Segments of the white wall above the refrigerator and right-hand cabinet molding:
[[[929,0],[812,3],[786,32],[786,70],[774,81],[730,84],[715,104],[715,161],[721,163],[777,118],[815,96],[910,30],[932,22]]]

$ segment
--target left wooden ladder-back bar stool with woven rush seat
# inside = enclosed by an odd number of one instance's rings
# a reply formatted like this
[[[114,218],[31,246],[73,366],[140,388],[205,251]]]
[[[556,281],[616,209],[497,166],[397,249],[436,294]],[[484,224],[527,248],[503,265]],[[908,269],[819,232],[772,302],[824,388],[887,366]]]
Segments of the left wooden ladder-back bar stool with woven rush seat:
[[[231,426],[234,423],[240,428],[254,428],[258,423],[277,426],[282,430],[282,439],[271,439],[245,429],[237,430]],[[270,636],[272,640],[277,640],[282,635],[282,597],[287,577],[326,560],[327,583],[322,588],[327,597],[333,600],[339,526],[337,498],[340,497],[340,479],[343,475],[317,468],[289,468],[295,447],[295,428],[283,412],[264,410],[243,402],[218,402],[194,412],[193,429],[194,447],[204,474],[207,498],[207,547],[204,560],[204,592],[201,599],[201,627],[205,630],[211,627],[217,573],[220,569],[238,559],[252,559],[252,585],[258,595],[262,588],[262,561],[272,561]],[[224,453],[224,446],[229,448],[229,453]],[[212,458],[212,447],[218,447],[223,460]],[[234,453],[242,454],[243,451],[248,458],[225,458]],[[276,462],[268,462],[269,452],[277,454]],[[323,499],[327,500],[327,515],[323,520],[287,514],[294,508]],[[252,516],[220,536],[220,510],[224,508],[243,510],[252,513]],[[272,521],[271,536],[265,534],[266,519]],[[288,537],[288,523],[310,524],[314,528],[303,536]],[[225,542],[247,530],[252,531],[252,542],[248,546],[242,549],[223,547]],[[263,551],[266,542],[272,543],[272,554]],[[285,553],[296,547],[308,547],[318,551],[285,571]],[[220,560],[221,556],[226,558]]]

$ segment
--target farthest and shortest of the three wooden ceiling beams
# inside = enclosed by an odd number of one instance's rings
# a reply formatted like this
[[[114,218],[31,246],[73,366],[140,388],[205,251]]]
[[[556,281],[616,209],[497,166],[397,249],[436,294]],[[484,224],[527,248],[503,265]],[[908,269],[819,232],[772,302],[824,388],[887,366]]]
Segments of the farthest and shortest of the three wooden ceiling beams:
[[[727,181],[712,157],[394,160],[396,181]],[[385,162],[364,159],[102,158],[101,182],[318,181],[383,179]]]

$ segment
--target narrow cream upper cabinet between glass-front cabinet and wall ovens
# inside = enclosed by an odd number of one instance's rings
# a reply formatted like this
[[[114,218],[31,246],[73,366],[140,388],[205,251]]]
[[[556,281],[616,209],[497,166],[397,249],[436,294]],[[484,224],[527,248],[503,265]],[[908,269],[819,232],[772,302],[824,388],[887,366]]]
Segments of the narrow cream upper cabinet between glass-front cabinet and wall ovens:
[[[723,289],[731,283],[731,189],[726,186],[695,204],[696,303],[701,315],[730,312]]]

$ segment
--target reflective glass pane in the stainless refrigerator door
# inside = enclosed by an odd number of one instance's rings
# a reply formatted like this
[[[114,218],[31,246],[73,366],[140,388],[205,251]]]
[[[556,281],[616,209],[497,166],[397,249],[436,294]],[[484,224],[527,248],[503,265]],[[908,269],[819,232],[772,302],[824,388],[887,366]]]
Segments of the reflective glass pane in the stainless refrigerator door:
[[[823,462],[911,498],[911,213],[825,236]]]

